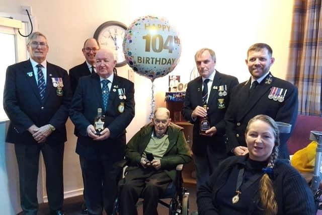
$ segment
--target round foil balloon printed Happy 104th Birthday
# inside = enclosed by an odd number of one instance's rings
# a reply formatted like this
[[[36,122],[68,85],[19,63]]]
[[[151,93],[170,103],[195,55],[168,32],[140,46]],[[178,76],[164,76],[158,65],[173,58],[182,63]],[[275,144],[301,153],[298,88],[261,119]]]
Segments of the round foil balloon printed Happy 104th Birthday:
[[[181,42],[176,28],[168,20],[144,16],[128,27],[123,50],[129,66],[153,81],[176,67],[181,55]]]

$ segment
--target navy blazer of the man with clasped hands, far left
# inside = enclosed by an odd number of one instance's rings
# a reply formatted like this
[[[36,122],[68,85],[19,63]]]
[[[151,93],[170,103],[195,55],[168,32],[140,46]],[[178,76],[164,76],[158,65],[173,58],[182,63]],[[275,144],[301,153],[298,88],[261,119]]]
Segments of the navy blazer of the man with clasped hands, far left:
[[[32,75],[31,75],[32,73]],[[65,122],[71,101],[71,90],[66,70],[47,62],[47,84],[43,101],[30,60],[8,66],[4,90],[4,109],[10,119],[7,142],[14,144],[37,144],[28,128],[53,125],[47,144],[60,144],[67,140]],[[62,78],[63,94],[59,96],[51,78]]]

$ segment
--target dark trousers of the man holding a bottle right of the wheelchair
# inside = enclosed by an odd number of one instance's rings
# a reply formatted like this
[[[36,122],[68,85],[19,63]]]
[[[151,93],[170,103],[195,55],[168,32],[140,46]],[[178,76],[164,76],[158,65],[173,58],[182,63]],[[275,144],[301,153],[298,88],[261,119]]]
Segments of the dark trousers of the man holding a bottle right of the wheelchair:
[[[193,155],[196,175],[197,175],[197,189],[204,184],[209,176],[213,173],[218,164],[226,158],[225,154],[218,155],[209,145],[203,155]]]

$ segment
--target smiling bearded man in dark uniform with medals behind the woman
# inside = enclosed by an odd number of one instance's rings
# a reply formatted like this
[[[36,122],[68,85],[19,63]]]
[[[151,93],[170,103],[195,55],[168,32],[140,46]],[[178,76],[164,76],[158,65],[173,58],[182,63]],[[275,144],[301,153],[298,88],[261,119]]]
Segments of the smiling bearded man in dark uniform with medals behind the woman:
[[[289,123],[292,129],[294,128],[298,111],[297,88],[270,73],[270,67],[275,60],[272,54],[272,48],[265,43],[256,43],[247,51],[246,64],[251,78],[233,89],[231,106],[225,115],[229,153],[248,153],[246,126],[248,121],[258,114],[268,115],[278,122]],[[286,141],[290,134],[280,133],[279,158],[289,159]]]

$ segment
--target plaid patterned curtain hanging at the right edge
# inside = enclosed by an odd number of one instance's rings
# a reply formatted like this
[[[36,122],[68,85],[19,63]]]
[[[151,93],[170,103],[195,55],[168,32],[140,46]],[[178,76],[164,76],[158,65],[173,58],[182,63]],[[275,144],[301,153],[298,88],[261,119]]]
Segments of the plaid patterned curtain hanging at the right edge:
[[[322,116],[321,0],[294,0],[286,80],[298,88],[299,114]]]

